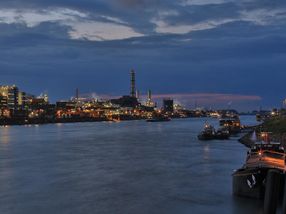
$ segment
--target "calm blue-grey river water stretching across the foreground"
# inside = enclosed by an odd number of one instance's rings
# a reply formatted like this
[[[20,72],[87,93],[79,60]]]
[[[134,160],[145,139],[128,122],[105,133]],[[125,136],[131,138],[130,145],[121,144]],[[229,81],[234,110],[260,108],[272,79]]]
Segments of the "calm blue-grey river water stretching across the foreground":
[[[0,213],[260,213],[232,196],[246,149],[199,142],[205,120],[2,127]]]

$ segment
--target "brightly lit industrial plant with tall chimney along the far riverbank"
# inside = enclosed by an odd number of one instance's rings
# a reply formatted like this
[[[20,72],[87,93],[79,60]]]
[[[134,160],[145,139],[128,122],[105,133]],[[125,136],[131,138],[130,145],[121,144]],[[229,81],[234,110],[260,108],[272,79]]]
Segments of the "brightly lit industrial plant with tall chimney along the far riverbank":
[[[130,72],[130,94],[107,100],[82,98],[79,89],[76,89],[71,99],[50,103],[47,93],[35,96],[21,91],[15,85],[0,86],[1,125],[141,120],[154,115],[174,118],[195,114],[176,106],[174,108],[174,101],[169,98],[163,100],[162,107],[158,107],[152,99],[151,90],[147,92],[146,102],[141,102],[133,69]]]

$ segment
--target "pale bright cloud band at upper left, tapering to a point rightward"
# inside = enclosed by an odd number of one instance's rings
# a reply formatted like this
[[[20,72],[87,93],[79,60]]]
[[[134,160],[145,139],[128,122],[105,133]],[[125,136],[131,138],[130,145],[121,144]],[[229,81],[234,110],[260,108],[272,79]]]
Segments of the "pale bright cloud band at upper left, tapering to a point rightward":
[[[0,10],[0,23],[24,24],[34,28],[41,23],[59,23],[70,27],[71,39],[86,39],[91,41],[119,40],[143,36],[135,32],[127,23],[116,17],[99,16],[96,21],[90,19],[90,14],[67,8],[45,10]]]

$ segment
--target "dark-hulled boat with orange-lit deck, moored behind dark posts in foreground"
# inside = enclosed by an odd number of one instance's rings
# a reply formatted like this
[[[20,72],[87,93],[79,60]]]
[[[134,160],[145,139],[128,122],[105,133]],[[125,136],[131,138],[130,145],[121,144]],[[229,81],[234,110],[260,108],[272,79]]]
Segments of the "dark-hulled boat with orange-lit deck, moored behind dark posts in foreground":
[[[284,147],[280,143],[270,142],[269,133],[263,132],[261,137],[263,141],[254,144],[247,153],[246,163],[232,175],[233,194],[236,196],[266,198],[266,189],[279,185],[280,176],[286,171]],[[278,177],[278,182],[269,178],[268,174],[273,172]],[[281,194],[281,190],[277,190],[279,191],[277,194]]]

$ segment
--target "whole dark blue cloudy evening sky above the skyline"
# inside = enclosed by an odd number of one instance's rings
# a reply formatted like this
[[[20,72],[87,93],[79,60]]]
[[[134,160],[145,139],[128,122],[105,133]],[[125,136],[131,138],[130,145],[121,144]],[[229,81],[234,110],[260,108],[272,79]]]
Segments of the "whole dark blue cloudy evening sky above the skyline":
[[[52,100],[141,93],[271,108],[286,97],[285,0],[1,0],[0,84]]]

